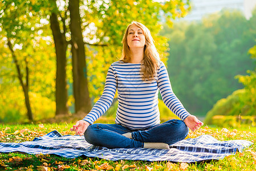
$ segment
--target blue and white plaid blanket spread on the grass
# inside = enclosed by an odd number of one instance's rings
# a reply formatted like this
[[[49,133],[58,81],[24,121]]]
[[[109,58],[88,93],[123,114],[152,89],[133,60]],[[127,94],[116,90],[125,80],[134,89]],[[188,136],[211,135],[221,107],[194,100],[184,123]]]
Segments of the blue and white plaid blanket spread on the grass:
[[[107,160],[147,160],[172,162],[198,162],[220,160],[225,156],[241,152],[250,146],[250,141],[218,141],[210,135],[186,139],[170,146],[170,149],[119,148],[108,149],[88,144],[82,136],[62,136],[52,131],[33,141],[23,143],[0,143],[0,152],[25,152],[29,154],[57,154],[67,158],[79,156],[98,157]]]

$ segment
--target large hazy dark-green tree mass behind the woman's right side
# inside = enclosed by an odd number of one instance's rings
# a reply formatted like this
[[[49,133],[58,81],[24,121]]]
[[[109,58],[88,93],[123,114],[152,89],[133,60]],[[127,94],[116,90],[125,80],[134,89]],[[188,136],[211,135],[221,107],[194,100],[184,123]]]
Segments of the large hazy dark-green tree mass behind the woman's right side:
[[[217,100],[242,88],[234,77],[254,68],[247,51],[255,43],[255,21],[255,13],[247,21],[238,11],[222,11],[161,32],[170,39],[173,91],[190,113],[205,115]]]

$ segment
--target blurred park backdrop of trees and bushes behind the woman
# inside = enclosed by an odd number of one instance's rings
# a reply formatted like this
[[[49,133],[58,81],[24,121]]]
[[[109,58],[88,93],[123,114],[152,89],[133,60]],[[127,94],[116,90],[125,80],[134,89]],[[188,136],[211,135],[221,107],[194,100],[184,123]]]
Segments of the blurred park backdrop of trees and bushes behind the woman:
[[[125,28],[139,21],[192,115],[210,125],[255,126],[255,1],[213,2],[2,1],[0,123],[82,119],[121,56]],[[200,9],[208,13],[193,19]],[[113,121],[117,105],[105,120]],[[162,121],[175,118],[160,95],[159,108]]]

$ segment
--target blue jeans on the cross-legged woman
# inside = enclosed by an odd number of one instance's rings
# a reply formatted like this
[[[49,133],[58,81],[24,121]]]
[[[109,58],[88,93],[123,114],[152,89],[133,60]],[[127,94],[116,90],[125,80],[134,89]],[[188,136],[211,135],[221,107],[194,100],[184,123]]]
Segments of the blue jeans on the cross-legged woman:
[[[132,133],[132,139],[122,135],[128,132]],[[188,132],[184,121],[173,119],[143,130],[132,130],[120,124],[92,124],[84,137],[90,144],[107,148],[143,148],[144,143],[177,143],[185,139]]]

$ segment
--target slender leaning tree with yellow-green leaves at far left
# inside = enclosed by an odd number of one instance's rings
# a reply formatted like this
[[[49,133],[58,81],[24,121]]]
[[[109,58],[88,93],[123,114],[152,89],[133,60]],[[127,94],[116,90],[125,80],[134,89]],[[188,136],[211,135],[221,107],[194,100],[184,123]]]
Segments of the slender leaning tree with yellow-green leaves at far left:
[[[2,78],[7,78],[7,74],[9,74],[9,78],[15,75],[18,79],[25,96],[27,116],[29,120],[32,121],[33,111],[31,109],[29,92],[31,90],[38,92],[44,89],[43,95],[49,98],[51,98],[52,95],[52,88],[48,86],[52,84],[52,82],[49,82],[47,79],[38,78],[40,68],[38,64],[45,62],[43,58],[46,59],[48,56],[51,56],[51,52],[48,51],[51,48],[47,47],[46,50],[44,47],[46,47],[46,45],[49,46],[51,42],[43,40],[44,35],[42,33],[46,25],[40,22],[42,18],[35,15],[36,11],[31,10],[31,4],[26,1],[16,3],[4,1],[1,5],[3,6],[3,10],[1,10],[0,14],[1,39],[2,42],[9,47],[9,51],[3,51],[1,55],[1,62],[6,64],[6,70],[3,70],[1,75],[3,74]],[[49,52],[47,57],[42,56],[42,51],[44,51],[44,53]],[[7,63],[11,62],[8,59],[9,56],[13,58],[13,64],[7,65]],[[51,60],[47,62],[51,64]],[[15,68],[13,68],[14,65]],[[50,76],[48,77],[49,74],[46,74],[51,73],[46,68],[43,69],[41,67],[40,74],[44,74],[46,78],[51,78]],[[13,72],[14,70],[16,70],[16,72]],[[15,83],[15,79],[4,79],[2,84],[7,82]],[[36,82],[38,82],[38,84],[35,86]],[[46,85],[45,87],[39,86],[42,82],[44,86]]]

